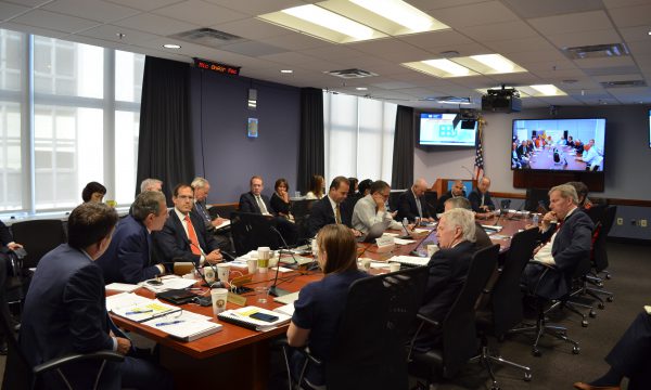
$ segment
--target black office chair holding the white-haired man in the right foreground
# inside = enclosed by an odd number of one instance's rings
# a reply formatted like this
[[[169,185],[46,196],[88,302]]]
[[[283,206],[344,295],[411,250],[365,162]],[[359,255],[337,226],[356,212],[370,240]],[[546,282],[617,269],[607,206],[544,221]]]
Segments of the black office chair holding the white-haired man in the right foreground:
[[[442,323],[418,315],[421,323],[408,348],[409,373],[424,379],[427,388],[441,377],[452,378],[476,354],[478,342],[474,306],[497,265],[498,253],[499,245],[474,253],[459,297]],[[443,342],[430,351],[419,352],[413,346],[427,326],[441,329]]]

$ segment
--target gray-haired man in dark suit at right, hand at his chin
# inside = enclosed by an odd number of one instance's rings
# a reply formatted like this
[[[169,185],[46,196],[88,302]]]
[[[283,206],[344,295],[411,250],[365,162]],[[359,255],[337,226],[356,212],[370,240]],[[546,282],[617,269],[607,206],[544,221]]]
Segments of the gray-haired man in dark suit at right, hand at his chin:
[[[558,299],[567,294],[576,265],[590,255],[595,225],[577,204],[572,185],[557,185],[549,191],[551,211],[545,214],[540,226],[544,244],[534,250],[534,262],[523,272],[523,282],[540,297]],[[552,224],[554,220],[559,226]]]

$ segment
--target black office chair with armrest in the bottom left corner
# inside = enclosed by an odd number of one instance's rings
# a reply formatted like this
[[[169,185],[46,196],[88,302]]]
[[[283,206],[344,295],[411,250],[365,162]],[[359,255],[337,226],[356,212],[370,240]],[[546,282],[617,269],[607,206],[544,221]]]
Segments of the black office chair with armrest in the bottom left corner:
[[[59,377],[61,380],[67,380],[61,370],[65,365],[81,361],[108,361],[123,362],[124,356],[113,351],[97,351],[93,353],[75,353],[65,356],[52,359],[46,363],[30,367],[25,355],[20,349],[18,340],[11,324],[9,308],[4,297],[4,286],[7,283],[7,264],[4,259],[0,259],[0,329],[4,335],[8,344],[7,363],[4,366],[4,377],[2,378],[3,390],[26,390],[26,389],[46,389],[52,384],[43,381],[43,374],[56,373],[59,375],[50,376],[50,380]],[[98,379],[102,372],[98,373]]]

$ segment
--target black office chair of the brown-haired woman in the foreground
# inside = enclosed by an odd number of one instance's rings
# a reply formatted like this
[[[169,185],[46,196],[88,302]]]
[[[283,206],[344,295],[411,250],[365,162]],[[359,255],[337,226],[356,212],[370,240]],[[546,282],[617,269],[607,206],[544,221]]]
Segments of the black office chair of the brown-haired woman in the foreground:
[[[427,268],[419,266],[354,282],[342,322],[324,362],[326,387],[336,389],[407,389],[408,333],[423,299]],[[291,349],[283,347],[289,366]],[[308,355],[308,364],[323,362]],[[290,376],[290,382],[292,378]]]

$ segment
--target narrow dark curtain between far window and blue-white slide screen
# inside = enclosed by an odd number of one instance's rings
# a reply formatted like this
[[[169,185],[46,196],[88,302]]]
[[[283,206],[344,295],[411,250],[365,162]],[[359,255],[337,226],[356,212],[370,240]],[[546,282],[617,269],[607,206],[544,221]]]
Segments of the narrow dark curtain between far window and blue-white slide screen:
[[[396,113],[396,132],[394,134],[394,159],[391,176],[392,188],[409,188],[413,184],[414,146],[413,107],[399,105]]]

